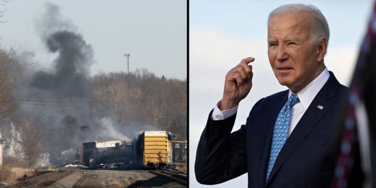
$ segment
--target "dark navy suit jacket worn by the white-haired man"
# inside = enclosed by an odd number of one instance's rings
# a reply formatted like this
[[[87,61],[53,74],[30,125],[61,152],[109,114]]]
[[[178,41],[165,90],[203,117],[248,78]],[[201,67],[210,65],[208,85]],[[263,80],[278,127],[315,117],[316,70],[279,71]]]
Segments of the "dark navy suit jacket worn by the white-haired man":
[[[332,144],[332,138],[337,137],[332,136],[335,117],[348,92],[329,73],[329,79],[287,138],[267,181],[274,124],[288,90],[259,100],[246,124],[233,133],[236,114],[214,121],[211,112],[196,154],[198,182],[217,184],[248,172],[248,187],[329,187],[338,156]]]

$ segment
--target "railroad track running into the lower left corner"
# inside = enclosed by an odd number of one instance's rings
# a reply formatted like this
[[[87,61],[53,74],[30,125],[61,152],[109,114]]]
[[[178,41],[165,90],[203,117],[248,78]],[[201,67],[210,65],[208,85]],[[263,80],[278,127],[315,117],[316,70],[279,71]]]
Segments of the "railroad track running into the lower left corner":
[[[24,181],[6,186],[7,188],[13,188],[13,187],[46,187],[57,180],[71,174],[72,171],[53,171],[49,173],[45,173],[42,175],[38,175],[36,177],[26,179]]]

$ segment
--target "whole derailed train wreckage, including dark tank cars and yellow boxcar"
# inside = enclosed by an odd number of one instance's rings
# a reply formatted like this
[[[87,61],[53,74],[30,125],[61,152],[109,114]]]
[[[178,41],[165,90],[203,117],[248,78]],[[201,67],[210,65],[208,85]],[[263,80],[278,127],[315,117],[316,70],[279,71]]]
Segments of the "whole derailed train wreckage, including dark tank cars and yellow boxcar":
[[[90,168],[116,165],[158,169],[186,163],[186,141],[172,140],[172,134],[167,131],[140,131],[132,142],[93,141],[82,146],[78,157]]]

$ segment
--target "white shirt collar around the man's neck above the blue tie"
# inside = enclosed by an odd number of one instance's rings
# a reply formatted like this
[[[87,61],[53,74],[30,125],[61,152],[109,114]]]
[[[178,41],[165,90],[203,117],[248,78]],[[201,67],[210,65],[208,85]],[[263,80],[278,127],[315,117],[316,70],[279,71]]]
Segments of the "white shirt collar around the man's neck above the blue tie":
[[[308,106],[311,104],[311,102],[313,101],[317,93],[321,90],[322,86],[324,86],[329,77],[329,71],[325,67],[320,75],[318,75],[314,80],[312,80],[307,86],[305,86],[297,93],[300,103],[303,105],[305,110],[307,110]],[[289,97],[292,94],[292,91],[289,89]]]

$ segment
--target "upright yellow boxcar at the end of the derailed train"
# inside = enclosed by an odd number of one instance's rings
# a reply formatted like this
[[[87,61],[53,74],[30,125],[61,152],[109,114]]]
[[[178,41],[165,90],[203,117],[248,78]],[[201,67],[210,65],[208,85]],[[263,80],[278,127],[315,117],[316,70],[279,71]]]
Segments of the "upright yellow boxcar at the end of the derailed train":
[[[165,168],[171,159],[166,131],[140,131],[136,155],[145,168]]]

